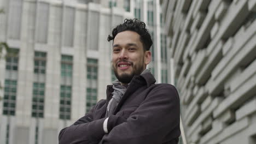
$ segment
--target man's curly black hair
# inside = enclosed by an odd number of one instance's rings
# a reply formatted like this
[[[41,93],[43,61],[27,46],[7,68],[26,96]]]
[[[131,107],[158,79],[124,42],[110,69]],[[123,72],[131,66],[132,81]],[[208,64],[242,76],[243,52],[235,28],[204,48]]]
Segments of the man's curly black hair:
[[[138,33],[141,36],[144,50],[149,51],[153,41],[144,22],[139,21],[138,19],[125,19],[124,23],[113,29],[112,36],[108,35],[108,41],[113,40],[118,33],[123,31],[133,31]]]

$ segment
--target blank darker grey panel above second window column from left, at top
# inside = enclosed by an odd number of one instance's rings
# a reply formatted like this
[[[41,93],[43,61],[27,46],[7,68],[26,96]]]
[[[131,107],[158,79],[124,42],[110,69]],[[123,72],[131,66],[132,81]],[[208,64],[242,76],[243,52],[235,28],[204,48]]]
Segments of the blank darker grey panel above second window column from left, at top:
[[[49,19],[49,4],[39,2],[38,25],[37,25],[37,42],[47,43]]]

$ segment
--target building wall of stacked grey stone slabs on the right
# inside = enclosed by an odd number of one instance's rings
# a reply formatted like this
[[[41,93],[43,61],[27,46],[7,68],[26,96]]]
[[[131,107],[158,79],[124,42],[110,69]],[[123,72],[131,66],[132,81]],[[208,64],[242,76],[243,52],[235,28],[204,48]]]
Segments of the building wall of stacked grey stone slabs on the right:
[[[256,143],[256,1],[161,1],[184,143]]]

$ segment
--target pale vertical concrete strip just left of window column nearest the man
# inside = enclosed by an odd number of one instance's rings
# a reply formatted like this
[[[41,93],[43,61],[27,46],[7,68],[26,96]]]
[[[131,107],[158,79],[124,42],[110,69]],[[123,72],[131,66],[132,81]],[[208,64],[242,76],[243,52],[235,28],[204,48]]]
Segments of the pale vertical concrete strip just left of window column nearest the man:
[[[75,20],[75,45],[73,57],[73,83],[72,83],[72,121],[76,121],[85,113],[85,35],[86,35],[86,18],[87,11],[77,10]]]

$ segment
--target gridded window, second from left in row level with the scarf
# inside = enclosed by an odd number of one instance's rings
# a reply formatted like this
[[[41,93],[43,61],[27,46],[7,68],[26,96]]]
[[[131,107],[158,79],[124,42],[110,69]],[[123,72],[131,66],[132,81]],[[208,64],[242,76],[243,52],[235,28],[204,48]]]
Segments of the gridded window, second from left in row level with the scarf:
[[[44,117],[44,83],[33,83],[32,117]]]

